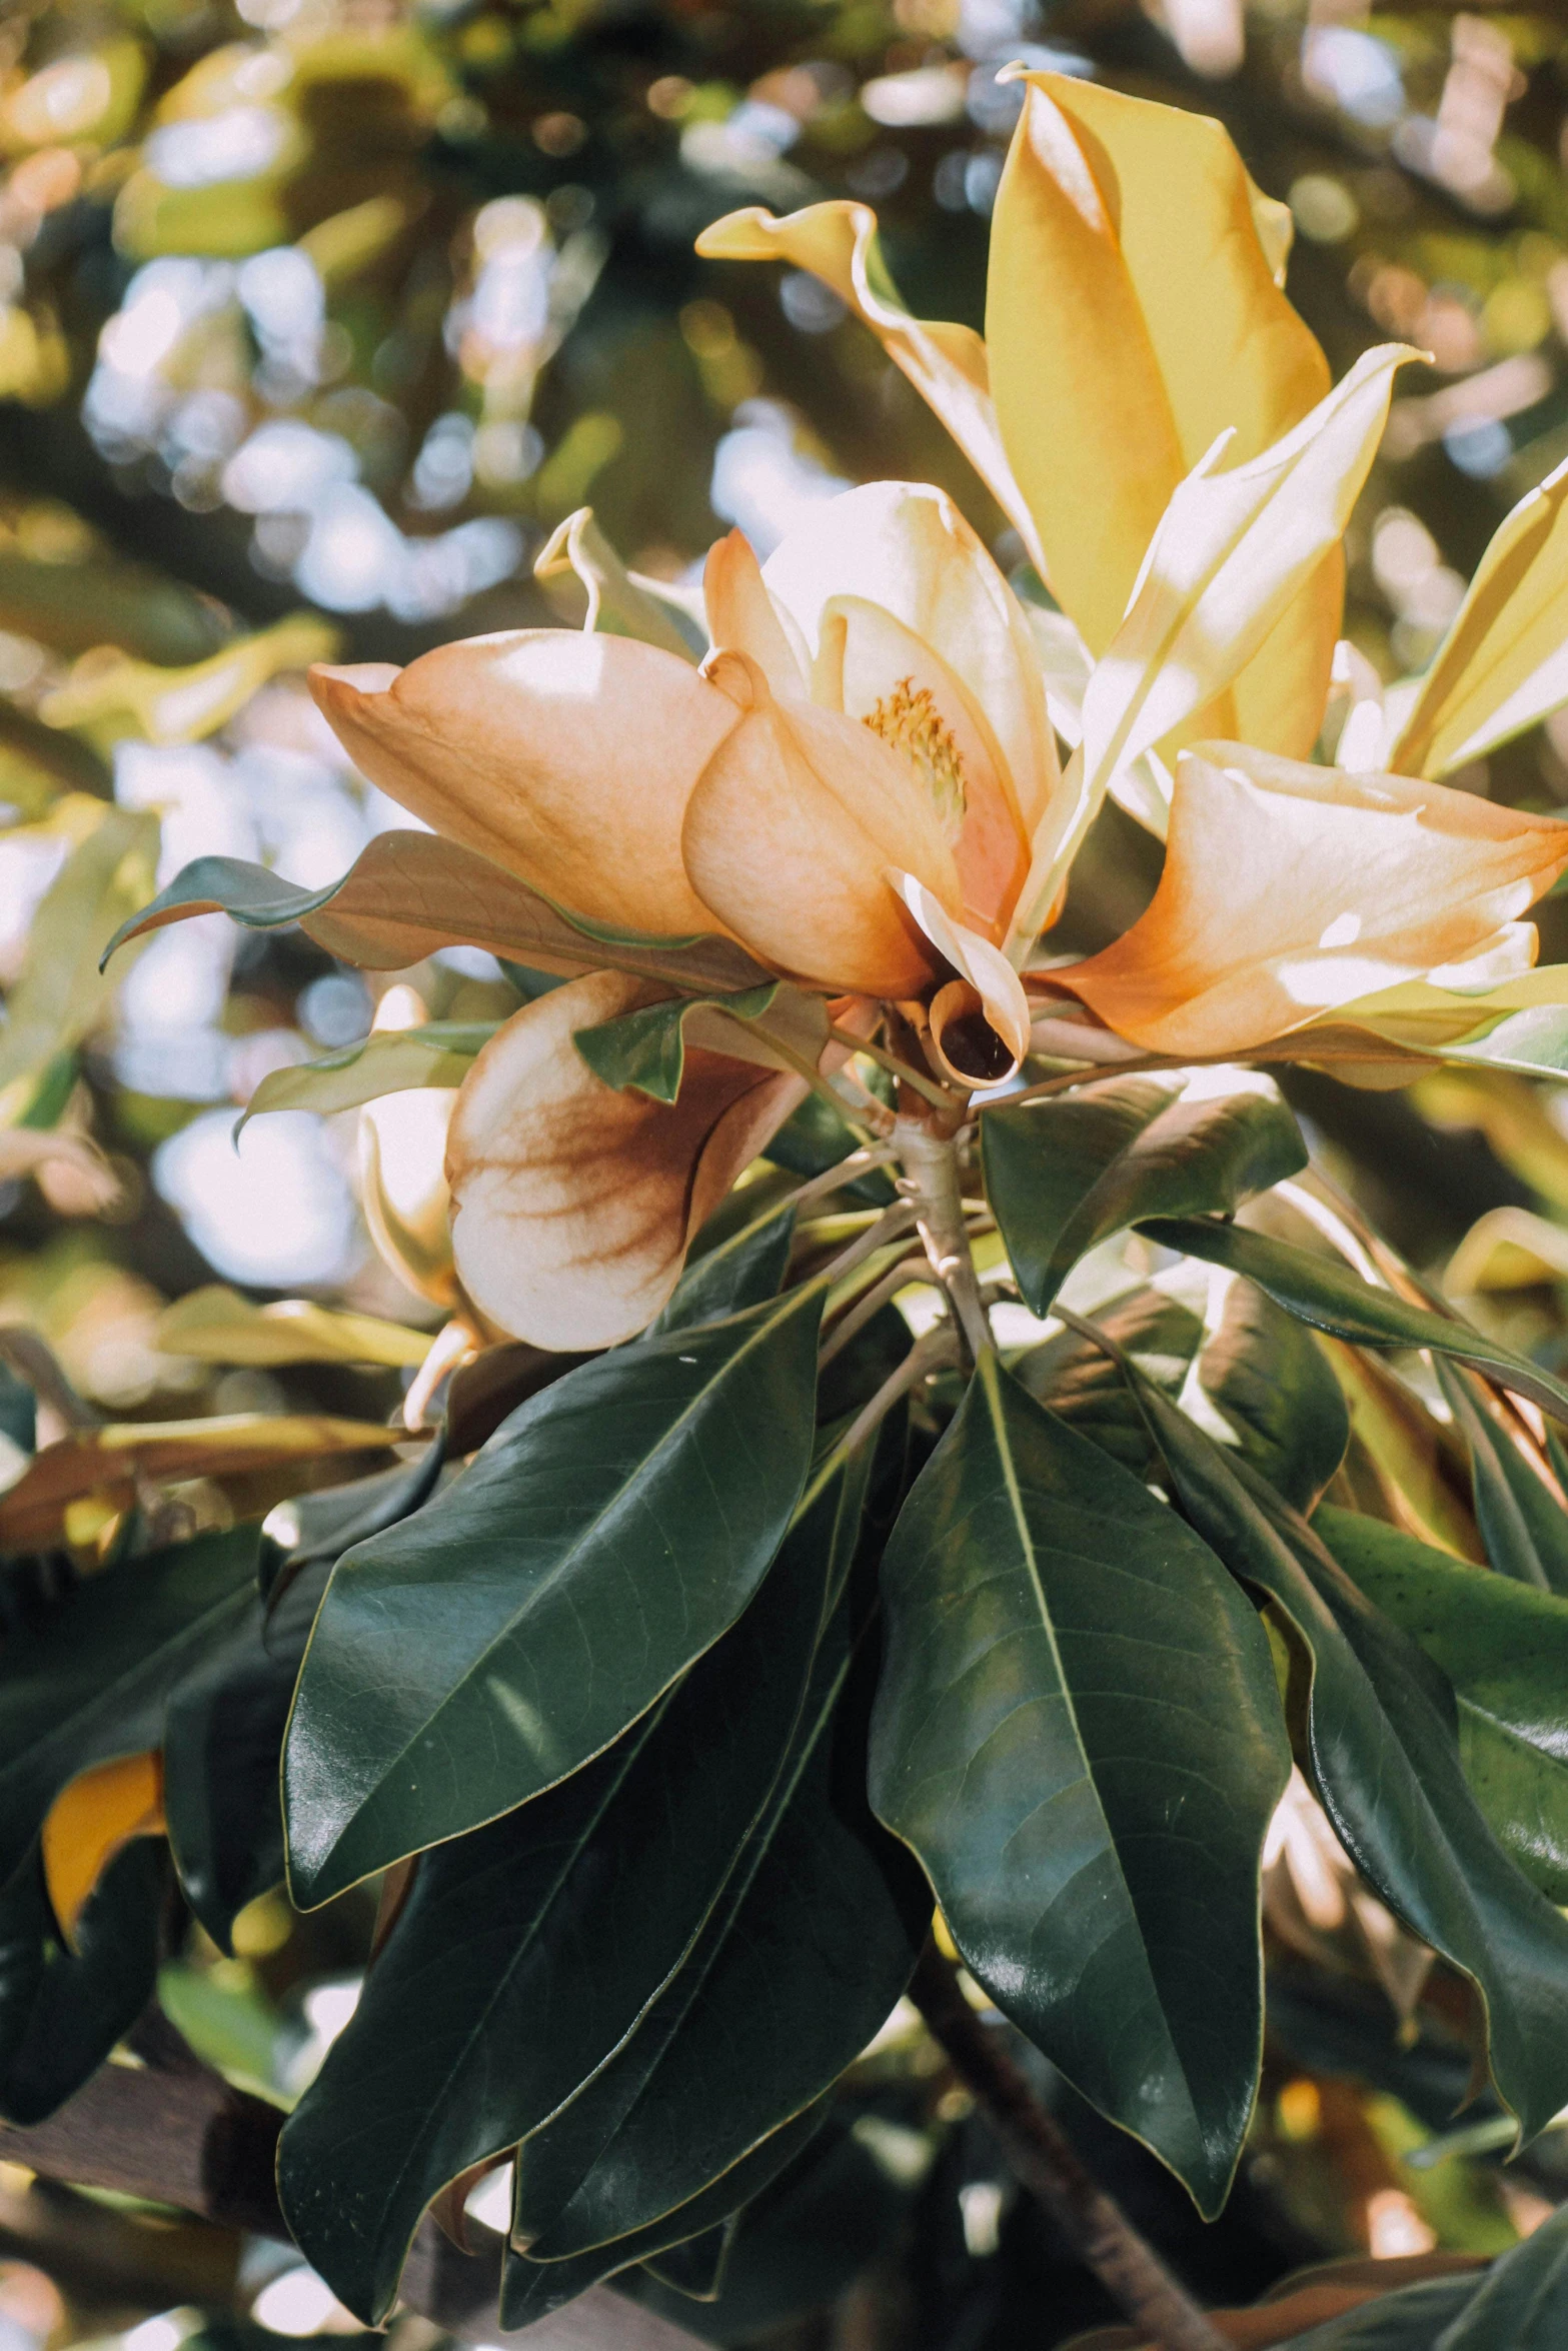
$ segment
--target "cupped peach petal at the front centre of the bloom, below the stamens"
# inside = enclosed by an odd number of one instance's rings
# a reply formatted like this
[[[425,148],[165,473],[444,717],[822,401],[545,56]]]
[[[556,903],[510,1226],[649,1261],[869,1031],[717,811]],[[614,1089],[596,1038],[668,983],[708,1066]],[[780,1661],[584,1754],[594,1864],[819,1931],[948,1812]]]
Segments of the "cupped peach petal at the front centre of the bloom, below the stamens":
[[[743,717],[703,771],[682,837],[705,905],[755,955],[818,987],[912,997],[933,971],[926,940],[884,875],[914,872],[959,896],[931,795],[870,726],[783,703],[745,654],[712,679]]]

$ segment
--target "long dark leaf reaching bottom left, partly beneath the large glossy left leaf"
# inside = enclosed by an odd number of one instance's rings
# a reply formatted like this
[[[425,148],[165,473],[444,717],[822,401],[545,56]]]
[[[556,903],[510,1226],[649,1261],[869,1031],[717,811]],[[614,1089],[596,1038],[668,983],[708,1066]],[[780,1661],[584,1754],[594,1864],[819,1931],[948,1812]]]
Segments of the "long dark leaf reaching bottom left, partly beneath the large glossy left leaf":
[[[277,2168],[294,2236],[367,2323],[428,2201],[569,2099],[691,1947],[778,1780],[865,1469],[802,1512],[741,1622],[616,1747],[418,1862]]]

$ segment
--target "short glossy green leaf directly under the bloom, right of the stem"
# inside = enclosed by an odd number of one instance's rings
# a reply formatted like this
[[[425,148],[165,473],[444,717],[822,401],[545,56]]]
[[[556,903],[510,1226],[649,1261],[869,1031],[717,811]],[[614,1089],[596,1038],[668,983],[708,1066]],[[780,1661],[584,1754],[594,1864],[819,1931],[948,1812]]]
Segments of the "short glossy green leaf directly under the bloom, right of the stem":
[[[1044,1314],[1077,1260],[1147,1215],[1237,1208],[1307,1164],[1274,1093],[1185,1100],[1168,1079],[1107,1077],[987,1110],[985,1192],[1018,1288]]]

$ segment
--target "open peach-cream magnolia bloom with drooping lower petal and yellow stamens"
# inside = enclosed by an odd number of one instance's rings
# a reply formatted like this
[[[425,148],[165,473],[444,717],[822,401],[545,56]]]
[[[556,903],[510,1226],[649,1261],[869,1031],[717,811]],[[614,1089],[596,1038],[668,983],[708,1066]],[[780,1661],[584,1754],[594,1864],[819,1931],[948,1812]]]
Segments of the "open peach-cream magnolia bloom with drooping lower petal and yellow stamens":
[[[950,498],[898,482],[813,513],[766,564],[719,541],[701,668],[522,630],[407,670],[315,670],[315,694],[374,783],[588,933],[736,940],[830,999],[827,1056],[893,1004],[961,1103],[1027,1051],[1018,966],[1103,795],[1229,689],[1338,545],[1401,355],[1371,353],[1272,449],[1225,468],[1220,442],[1178,487],[1067,773],[1013,590]],[[672,1103],[604,1084],[583,1032],[663,994],[588,969],[515,1013],[461,1089],[456,1279],[536,1345],[639,1331],[816,1077],[719,1020],[686,1039]]]

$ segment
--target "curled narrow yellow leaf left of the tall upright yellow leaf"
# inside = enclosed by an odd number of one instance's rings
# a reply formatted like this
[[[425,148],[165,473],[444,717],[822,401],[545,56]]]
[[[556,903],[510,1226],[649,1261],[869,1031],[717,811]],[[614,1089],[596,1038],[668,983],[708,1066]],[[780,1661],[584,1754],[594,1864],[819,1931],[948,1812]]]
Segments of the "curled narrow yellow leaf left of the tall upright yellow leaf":
[[[870,205],[835,197],[783,221],[750,205],[705,228],[696,249],[708,261],[788,261],[832,287],[943,418],[1044,574],[1034,517],[1001,451],[985,343],[973,327],[919,320],[905,310],[882,259]]]

